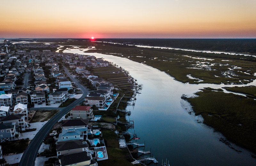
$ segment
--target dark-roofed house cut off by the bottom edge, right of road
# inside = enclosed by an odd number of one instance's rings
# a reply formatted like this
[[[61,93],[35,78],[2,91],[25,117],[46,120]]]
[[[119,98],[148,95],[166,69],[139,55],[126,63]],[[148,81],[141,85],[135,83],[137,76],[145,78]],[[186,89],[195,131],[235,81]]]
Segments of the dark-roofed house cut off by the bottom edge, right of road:
[[[92,155],[87,155],[87,152],[59,155],[58,159],[56,166],[98,166]]]

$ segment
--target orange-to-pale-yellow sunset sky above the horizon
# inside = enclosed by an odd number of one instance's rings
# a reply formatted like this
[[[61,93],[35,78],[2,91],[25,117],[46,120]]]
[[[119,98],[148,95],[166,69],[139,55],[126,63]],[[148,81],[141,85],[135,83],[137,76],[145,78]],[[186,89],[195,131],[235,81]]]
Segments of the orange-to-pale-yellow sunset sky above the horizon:
[[[12,0],[0,38],[256,38],[256,0]]]

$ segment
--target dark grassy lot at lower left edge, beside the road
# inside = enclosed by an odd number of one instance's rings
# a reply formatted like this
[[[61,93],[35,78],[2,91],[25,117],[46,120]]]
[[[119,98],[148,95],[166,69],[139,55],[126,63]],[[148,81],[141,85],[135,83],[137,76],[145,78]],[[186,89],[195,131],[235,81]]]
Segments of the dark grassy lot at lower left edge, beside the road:
[[[7,141],[2,142],[0,145],[2,146],[3,154],[10,154],[10,153],[23,153],[26,148],[28,147],[30,140],[15,140],[15,141]]]

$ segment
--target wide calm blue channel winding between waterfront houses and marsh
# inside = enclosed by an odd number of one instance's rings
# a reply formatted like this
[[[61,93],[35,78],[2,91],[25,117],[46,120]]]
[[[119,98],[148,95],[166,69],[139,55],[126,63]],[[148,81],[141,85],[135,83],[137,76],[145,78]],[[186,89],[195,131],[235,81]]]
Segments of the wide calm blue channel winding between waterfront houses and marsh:
[[[190,115],[191,106],[180,98],[182,94],[193,95],[204,87],[234,85],[181,83],[164,72],[126,58],[84,53],[78,48],[64,50],[64,53],[103,57],[129,71],[138,83],[143,84],[135,106],[127,107],[132,112],[127,119],[134,119],[135,127],[130,132],[140,137],[138,142],[145,141],[145,150],[151,148],[151,155],[158,161],[167,158],[172,166],[256,165],[250,151],[231,143],[233,148],[242,151],[238,153],[219,141],[225,137],[204,125],[202,117]],[[256,81],[247,85],[256,85]]]

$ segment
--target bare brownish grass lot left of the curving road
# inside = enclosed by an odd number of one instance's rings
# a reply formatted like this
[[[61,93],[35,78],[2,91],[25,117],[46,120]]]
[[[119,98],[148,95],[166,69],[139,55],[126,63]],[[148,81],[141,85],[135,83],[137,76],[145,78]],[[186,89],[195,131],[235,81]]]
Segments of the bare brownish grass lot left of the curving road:
[[[30,123],[44,122],[51,119],[58,112],[57,110],[37,110]]]

